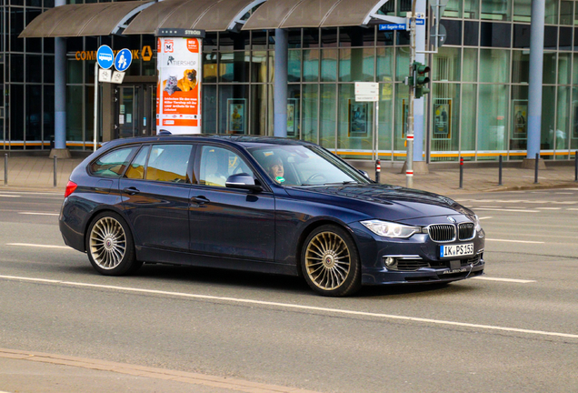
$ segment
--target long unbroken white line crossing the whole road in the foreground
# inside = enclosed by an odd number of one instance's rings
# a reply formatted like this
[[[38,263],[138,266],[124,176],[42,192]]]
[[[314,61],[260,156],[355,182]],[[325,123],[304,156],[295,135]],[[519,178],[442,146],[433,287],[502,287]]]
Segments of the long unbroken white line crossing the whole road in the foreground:
[[[442,320],[442,319],[430,319],[430,318],[423,318],[423,317],[404,317],[404,316],[398,316],[398,315],[392,315],[392,314],[381,314],[381,313],[373,313],[373,312],[365,312],[365,311],[354,311],[354,310],[340,309],[340,308],[304,306],[304,305],[297,305],[297,304],[291,304],[291,303],[279,303],[279,302],[254,300],[254,299],[238,298],[238,297],[216,297],[216,296],[210,296],[210,295],[189,294],[189,293],[184,293],[184,292],[168,292],[168,291],[162,291],[162,290],[143,289],[143,288],[137,288],[137,287],[116,287],[116,286],[88,284],[88,283],[74,282],[74,281],[59,281],[59,280],[52,280],[52,279],[45,279],[45,278],[33,278],[33,277],[0,276],[0,278],[5,278],[5,279],[9,279],[9,280],[18,280],[18,281],[30,281],[30,282],[39,282],[39,283],[47,283],[47,284],[57,284],[57,285],[64,285],[64,286],[70,286],[70,287],[98,287],[98,288],[103,288],[103,289],[113,289],[113,290],[133,292],[133,293],[146,293],[146,294],[154,294],[154,295],[173,296],[173,297],[188,297],[188,298],[194,298],[194,299],[224,301],[224,302],[237,303],[237,304],[254,304],[254,305],[261,305],[261,306],[283,307],[283,308],[302,309],[302,310],[310,310],[310,311],[323,311],[323,312],[341,314],[341,315],[351,315],[351,316],[361,316],[361,317],[379,317],[379,318],[384,318],[384,319],[385,318],[386,319],[397,319],[397,320],[405,320],[405,321],[412,321],[412,322],[429,323],[429,324],[435,324],[435,325],[454,326],[454,327],[461,327],[461,328],[478,328],[478,329],[485,329],[485,330],[507,331],[507,332],[513,332],[513,333],[523,333],[523,334],[538,335],[538,336],[576,338],[576,339],[578,339],[578,334],[570,334],[570,333],[558,333],[558,332],[550,332],[550,331],[543,331],[543,330],[530,330],[530,329],[524,329],[524,328],[504,328],[504,327],[493,326],[493,325],[478,325],[478,324],[471,324],[471,323],[464,323],[464,322],[447,321],[447,320]]]

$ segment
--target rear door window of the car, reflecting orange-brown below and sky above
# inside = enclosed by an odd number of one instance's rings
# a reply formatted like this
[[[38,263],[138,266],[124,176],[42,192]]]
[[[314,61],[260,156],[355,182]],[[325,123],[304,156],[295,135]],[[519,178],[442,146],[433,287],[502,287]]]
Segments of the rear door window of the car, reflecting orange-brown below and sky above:
[[[146,179],[171,183],[187,182],[186,168],[192,148],[192,145],[153,146],[146,166]]]

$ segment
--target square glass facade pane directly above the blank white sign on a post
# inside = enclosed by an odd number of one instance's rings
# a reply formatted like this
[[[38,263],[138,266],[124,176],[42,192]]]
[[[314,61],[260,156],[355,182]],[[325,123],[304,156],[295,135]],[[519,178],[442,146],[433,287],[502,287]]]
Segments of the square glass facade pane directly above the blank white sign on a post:
[[[373,82],[374,49],[340,49],[340,82]]]

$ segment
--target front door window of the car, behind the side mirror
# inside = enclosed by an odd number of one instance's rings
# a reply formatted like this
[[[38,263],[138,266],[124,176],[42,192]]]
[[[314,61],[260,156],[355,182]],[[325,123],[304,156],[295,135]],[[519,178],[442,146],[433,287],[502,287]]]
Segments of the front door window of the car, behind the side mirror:
[[[254,176],[241,156],[222,147],[203,146],[199,166],[200,184],[224,186],[227,177],[240,173]]]

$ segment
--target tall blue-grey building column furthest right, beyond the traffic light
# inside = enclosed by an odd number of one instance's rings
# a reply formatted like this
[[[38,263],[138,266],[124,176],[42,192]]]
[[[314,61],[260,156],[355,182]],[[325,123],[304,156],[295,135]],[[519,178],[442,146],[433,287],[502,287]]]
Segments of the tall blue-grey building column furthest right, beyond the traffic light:
[[[530,25],[530,86],[528,88],[528,150],[523,167],[535,166],[536,154],[540,153],[542,137],[542,76],[543,76],[543,25],[545,0],[532,1],[532,25]],[[541,166],[543,165],[543,160]]]

